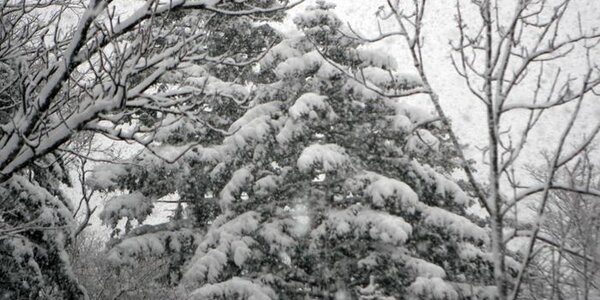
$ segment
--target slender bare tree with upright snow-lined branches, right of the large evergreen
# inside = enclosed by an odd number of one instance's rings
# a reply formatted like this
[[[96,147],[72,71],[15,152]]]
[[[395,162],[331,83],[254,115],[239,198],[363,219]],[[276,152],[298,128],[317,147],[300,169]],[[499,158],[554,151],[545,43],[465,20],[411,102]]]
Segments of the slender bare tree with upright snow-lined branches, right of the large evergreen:
[[[561,184],[556,180],[556,174],[582,153],[600,131],[598,120],[594,120],[596,123],[585,133],[577,132],[576,127],[585,102],[599,96],[594,90],[600,84],[594,51],[598,51],[600,33],[585,28],[580,19],[576,20],[579,21],[576,28],[569,30],[567,13],[576,5],[570,0],[515,0],[502,5],[490,0],[457,1],[458,39],[451,43],[454,49],[452,64],[487,114],[488,143],[483,150],[487,180],[484,184],[474,175],[440,104],[443,95],[432,88],[426,72],[425,37],[422,34],[426,2],[387,0],[387,5],[380,7],[378,17],[394,20],[396,31],[380,29],[377,36],[365,37],[352,30],[349,35],[368,41],[393,36],[404,39],[423,83],[423,90],[416,93],[429,96],[463,161],[474,197],[489,215],[498,298],[514,300],[521,290],[536,242],[542,239],[540,222],[534,222],[529,230],[510,230],[513,224],[524,221],[518,219],[518,212],[523,207],[520,204],[533,198],[541,199],[535,207],[534,218],[537,219],[547,212],[553,191],[599,194],[591,187]],[[582,72],[564,72],[565,64],[572,63],[577,57],[583,58],[579,62],[584,66]],[[519,158],[529,147],[530,135],[536,126],[540,126],[542,116],[549,110],[560,108],[570,109],[570,112],[564,111],[569,118],[565,123],[557,124],[561,127],[559,139],[556,144],[548,145],[551,149],[543,170],[545,180],[528,184],[520,177],[523,172]],[[517,111],[527,114],[522,124],[511,123],[506,118]],[[513,278],[508,275],[506,266],[507,243],[517,236],[526,236],[529,241],[518,274]]]

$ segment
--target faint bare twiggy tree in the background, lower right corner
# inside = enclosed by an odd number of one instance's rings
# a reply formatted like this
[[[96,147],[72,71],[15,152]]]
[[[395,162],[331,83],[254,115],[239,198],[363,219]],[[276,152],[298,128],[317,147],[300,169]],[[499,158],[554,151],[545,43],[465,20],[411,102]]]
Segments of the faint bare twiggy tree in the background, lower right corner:
[[[561,184],[572,189],[599,189],[594,151],[585,151],[557,174]],[[531,171],[540,181],[543,174]],[[569,190],[550,194],[540,239],[525,289],[530,299],[595,299],[598,286],[598,198]],[[551,288],[548,288],[551,287]]]

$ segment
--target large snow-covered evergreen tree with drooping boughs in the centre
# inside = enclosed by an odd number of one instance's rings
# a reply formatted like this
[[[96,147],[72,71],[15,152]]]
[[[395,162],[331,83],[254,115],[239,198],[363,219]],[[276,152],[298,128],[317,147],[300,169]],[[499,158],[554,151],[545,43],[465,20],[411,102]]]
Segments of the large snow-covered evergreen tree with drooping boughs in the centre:
[[[304,35],[228,86],[249,100],[243,114],[214,114],[224,138],[179,124],[161,148],[209,142],[97,180],[130,190],[103,212],[113,226],[143,222],[167,193],[187,203],[168,223],[128,230],[114,262],[177,253],[175,281],[192,299],[493,299],[488,233],[451,179],[452,146],[434,116],[390,97],[419,80],[344,35],[332,8],[309,7],[294,20]],[[225,80],[214,71],[208,90]]]

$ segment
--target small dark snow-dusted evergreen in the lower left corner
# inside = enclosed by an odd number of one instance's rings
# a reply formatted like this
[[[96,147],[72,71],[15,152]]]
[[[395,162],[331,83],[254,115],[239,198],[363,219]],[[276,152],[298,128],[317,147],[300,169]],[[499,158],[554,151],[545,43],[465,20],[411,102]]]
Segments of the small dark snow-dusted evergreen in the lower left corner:
[[[0,185],[0,298],[83,298],[66,246],[74,208],[60,190],[70,180],[52,154]]]

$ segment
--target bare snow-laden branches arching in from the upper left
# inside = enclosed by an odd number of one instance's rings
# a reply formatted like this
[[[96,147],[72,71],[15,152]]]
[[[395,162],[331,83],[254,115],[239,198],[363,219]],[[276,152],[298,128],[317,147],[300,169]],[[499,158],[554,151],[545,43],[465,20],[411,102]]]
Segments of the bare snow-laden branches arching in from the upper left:
[[[189,98],[203,94],[202,87],[157,92],[154,84],[159,78],[190,63],[248,61],[236,61],[235,53],[212,57],[205,51],[208,33],[202,23],[210,16],[186,20],[195,21],[191,23],[195,26],[182,28],[172,25],[170,14],[196,9],[205,14],[245,16],[298,4],[271,1],[258,7],[251,1],[237,2],[145,1],[122,17],[112,1],[78,5],[58,0],[3,1],[2,181],[58,149],[80,130],[149,144],[143,133],[164,125],[160,120],[129,130],[118,127],[142,109],[197,117],[198,103],[190,105]],[[76,16],[76,24],[67,31],[61,21],[69,12]],[[185,34],[176,31],[184,29]]]

